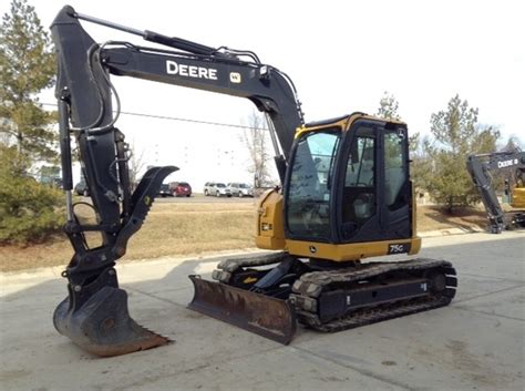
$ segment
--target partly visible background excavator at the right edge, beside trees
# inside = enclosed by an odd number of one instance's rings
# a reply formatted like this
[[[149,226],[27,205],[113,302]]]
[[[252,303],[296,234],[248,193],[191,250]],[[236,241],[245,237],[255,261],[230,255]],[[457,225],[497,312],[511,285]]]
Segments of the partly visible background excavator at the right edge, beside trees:
[[[493,152],[470,155],[466,168],[480,191],[487,213],[488,230],[501,234],[504,229],[525,228],[525,152]],[[505,175],[505,195],[513,208],[505,213],[496,196],[494,174]]]

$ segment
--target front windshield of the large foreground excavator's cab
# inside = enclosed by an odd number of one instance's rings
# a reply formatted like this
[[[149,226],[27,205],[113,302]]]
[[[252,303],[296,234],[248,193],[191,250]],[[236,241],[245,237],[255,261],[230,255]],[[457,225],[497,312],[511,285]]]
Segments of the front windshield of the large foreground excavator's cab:
[[[330,186],[339,147],[339,127],[300,136],[291,160],[287,224],[295,236],[330,237]]]

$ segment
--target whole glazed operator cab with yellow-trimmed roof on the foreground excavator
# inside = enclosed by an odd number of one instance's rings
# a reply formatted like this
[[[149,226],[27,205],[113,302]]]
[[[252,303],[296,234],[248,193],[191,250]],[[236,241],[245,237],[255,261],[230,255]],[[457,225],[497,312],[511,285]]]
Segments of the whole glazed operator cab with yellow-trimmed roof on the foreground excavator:
[[[291,240],[351,244],[412,237],[406,125],[352,114],[296,134],[285,229]]]

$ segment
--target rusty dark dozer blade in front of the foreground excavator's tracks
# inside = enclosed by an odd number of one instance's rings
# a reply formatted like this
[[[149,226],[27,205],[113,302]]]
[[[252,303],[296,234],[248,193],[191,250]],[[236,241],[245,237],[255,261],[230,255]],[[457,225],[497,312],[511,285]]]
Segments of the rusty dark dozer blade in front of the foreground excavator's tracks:
[[[296,333],[296,312],[287,300],[189,276],[195,294],[188,308],[274,341],[288,344]]]

